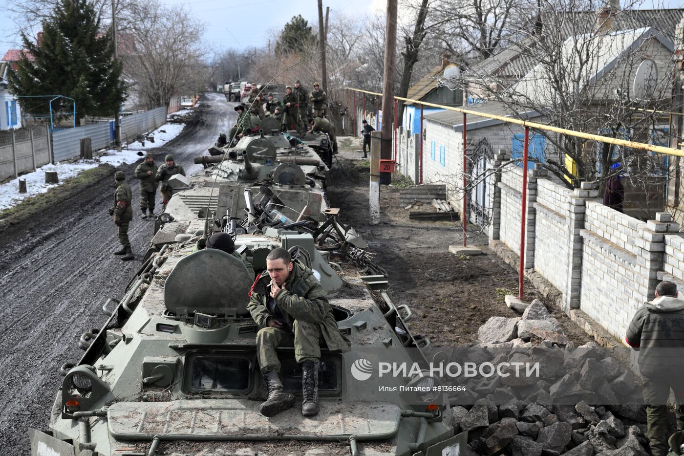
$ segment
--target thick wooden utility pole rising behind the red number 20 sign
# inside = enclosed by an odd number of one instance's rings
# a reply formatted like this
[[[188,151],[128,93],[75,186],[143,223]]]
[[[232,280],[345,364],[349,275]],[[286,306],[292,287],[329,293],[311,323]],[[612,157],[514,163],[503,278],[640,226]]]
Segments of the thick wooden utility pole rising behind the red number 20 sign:
[[[397,0],[387,0],[385,27],[385,60],[382,73],[382,148],[380,158],[392,160],[392,125],[394,104],[394,75],[397,70]],[[391,173],[380,173],[380,183],[391,183]]]

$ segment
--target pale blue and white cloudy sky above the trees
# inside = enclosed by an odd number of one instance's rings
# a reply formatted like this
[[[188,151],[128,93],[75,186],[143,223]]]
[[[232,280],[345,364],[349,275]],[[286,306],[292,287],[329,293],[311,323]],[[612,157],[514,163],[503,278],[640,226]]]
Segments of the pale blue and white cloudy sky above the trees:
[[[310,24],[318,23],[317,0],[162,0],[185,8],[206,24],[205,40],[211,49],[245,49],[267,45],[269,29],[280,29],[292,16],[301,14]],[[640,8],[681,8],[684,0],[644,0]],[[0,3],[2,3],[0,1]],[[622,0],[620,3],[625,3]],[[365,16],[384,11],[386,0],[324,0],[330,14]],[[1,9],[0,9],[1,10]],[[0,13],[0,58],[7,49],[18,48],[19,38],[12,20]]]

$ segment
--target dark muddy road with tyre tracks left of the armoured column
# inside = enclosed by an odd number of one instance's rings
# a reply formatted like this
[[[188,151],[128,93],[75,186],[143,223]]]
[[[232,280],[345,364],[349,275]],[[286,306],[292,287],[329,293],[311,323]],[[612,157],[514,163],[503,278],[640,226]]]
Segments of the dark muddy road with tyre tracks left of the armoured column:
[[[183,132],[166,146],[152,149],[155,164],[172,153],[186,173],[200,173],[193,157],[204,155],[221,132],[235,123],[235,103],[209,93],[195,108]],[[142,160],[142,158],[141,158]],[[120,299],[140,268],[154,222],[141,220],[135,164],[124,165],[133,190],[133,222],[129,229],[137,258],[122,262],[112,252],[120,248],[109,216],[111,176],[41,214],[3,231],[0,236],[0,453],[30,454],[27,429],[47,429],[60,366],[77,362],[83,351],[77,342],[89,328],[100,328],[106,317],[101,305]],[[156,212],[161,210],[157,193]]]

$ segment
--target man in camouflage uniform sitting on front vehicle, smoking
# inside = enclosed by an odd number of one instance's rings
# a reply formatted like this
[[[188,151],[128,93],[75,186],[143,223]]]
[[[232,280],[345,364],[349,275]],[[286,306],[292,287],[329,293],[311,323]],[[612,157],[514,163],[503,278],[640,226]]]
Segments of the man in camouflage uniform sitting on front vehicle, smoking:
[[[328,294],[311,269],[292,262],[287,250],[278,248],[266,257],[267,270],[252,286],[248,309],[261,327],[257,333],[257,357],[265,377],[268,398],[259,410],[274,416],[292,406],[294,396],[283,392],[278,346],[294,346],[295,361],[302,365],[302,415],[318,414],[318,365],[320,341],[330,350],[347,349],[328,303]],[[270,282],[270,286],[269,286]]]

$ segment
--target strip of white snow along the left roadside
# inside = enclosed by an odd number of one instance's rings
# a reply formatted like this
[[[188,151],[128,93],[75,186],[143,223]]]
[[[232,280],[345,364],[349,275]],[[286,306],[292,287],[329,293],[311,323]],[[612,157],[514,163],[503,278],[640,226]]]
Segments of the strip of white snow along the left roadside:
[[[184,115],[192,112],[192,110],[183,111],[185,112],[179,111],[174,114]],[[81,171],[96,168],[100,164],[105,163],[116,167],[122,164],[135,163],[137,160],[140,160],[141,156],[145,155],[144,151],[146,149],[163,146],[173,138],[176,138],[183,130],[183,127],[185,127],[185,124],[182,123],[167,123],[150,134],[150,136],[155,137],[155,142],[145,141],[144,146],[140,142],[133,142],[133,144],[129,144],[128,148],[123,149],[121,152],[117,152],[116,149],[109,149],[102,152],[101,155],[98,154],[93,160],[47,164],[41,166],[36,171],[23,174],[16,179],[3,183],[0,185],[0,210],[8,209],[26,198],[36,196],[36,194],[45,193],[51,188],[60,185],[66,179],[76,177]],[[138,152],[141,152],[141,155]],[[45,183],[45,171],[57,171],[60,183]],[[19,179],[26,179],[26,193],[19,193]]]

